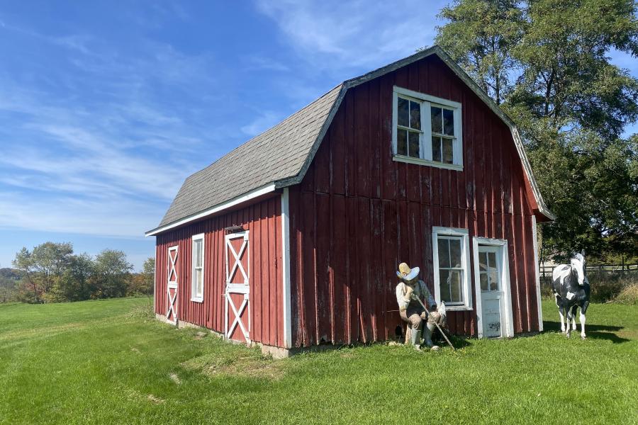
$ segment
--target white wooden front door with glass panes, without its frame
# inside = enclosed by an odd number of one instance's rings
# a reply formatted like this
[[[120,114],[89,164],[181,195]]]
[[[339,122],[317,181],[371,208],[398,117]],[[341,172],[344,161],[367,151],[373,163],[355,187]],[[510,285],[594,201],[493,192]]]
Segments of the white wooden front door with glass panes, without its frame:
[[[503,336],[503,276],[501,276],[500,246],[478,245],[478,280],[481,285],[483,336]]]

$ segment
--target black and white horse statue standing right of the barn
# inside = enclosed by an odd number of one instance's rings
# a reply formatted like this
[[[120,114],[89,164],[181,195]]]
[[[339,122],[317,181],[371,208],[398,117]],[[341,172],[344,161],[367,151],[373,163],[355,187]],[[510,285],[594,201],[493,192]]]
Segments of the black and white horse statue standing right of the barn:
[[[574,254],[569,264],[561,264],[552,272],[552,290],[561,316],[561,331],[567,338],[576,330],[576,310],[581,307],[581,338],[585,339],[585,314],[589,306],[589,280],[586,276],[585,253]],[[564,319],[567,317],[567,324]]]

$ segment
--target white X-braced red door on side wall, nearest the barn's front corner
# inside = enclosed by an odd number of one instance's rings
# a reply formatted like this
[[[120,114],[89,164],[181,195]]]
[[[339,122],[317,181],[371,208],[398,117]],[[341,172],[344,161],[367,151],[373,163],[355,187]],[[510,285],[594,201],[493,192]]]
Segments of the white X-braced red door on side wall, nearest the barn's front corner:
[[[237,340],[241,340],[240,338],[243,337],[246,343],[250,344],[250,244],[248,230],[225,236],[225,259],[225,335],[226,338]],[[230,326],[228,322],[230,322]],[[241,334],[233,338],[237,327]]]

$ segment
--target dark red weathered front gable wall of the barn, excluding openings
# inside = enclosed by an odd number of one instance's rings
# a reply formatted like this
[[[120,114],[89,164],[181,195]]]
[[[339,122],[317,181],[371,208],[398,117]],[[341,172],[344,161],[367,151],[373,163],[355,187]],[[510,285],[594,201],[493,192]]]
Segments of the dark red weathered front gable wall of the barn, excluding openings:
[[[462,103],[463,171],[392,160],[393,85]],[[420,266],[434,293],[432,226],[507,239],[515,332],[538,330],[535,204],[510,130],[437,57],[348,91],[290,205],[294,346],[392,338],[397,264]],[[477,333],[475,311],[448,320]]]

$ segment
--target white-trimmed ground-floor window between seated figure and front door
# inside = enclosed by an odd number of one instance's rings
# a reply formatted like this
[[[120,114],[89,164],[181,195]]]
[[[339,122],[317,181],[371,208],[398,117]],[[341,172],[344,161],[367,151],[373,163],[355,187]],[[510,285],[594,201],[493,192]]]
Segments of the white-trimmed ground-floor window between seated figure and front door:
[[[435,300],[450,310],[470,310],[469,234],[467,229],[432,227]]]

